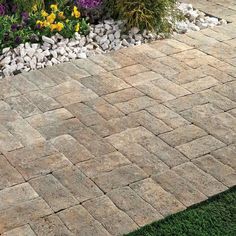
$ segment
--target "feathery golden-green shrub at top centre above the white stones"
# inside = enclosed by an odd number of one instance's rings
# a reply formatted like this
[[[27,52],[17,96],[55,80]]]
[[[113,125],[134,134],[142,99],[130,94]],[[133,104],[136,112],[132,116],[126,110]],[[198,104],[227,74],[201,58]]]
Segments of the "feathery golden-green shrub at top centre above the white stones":
[[[169,33],[179,16],[176,0],[119,0],[117,11],[128,27]]]

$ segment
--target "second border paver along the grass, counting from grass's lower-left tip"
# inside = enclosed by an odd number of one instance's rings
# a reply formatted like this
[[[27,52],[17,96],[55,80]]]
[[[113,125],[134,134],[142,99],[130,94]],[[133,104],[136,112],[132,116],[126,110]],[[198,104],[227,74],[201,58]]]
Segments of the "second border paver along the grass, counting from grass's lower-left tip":
[[[130,187],[115,189],[107,195],[119,209],[126,212],[139,226],[150,224],[162,218],[162,215],[156,209],[145,202]]]

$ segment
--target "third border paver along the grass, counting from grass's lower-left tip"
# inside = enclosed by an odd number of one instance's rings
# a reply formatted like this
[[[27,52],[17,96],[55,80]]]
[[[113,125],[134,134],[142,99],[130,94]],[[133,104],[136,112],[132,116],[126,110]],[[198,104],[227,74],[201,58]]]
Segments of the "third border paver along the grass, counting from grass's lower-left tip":
[[[131,184],[130,187],[162,216],[167,216],[185,209],[184,205],[174,195],[165,191],[150,178]]]

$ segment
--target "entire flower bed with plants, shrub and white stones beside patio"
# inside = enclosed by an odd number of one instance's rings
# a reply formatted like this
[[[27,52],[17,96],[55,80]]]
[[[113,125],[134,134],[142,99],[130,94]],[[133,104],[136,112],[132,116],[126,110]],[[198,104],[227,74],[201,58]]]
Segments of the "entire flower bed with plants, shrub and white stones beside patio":
[[[226,23],[175,0],[2,1],[0,78]]]

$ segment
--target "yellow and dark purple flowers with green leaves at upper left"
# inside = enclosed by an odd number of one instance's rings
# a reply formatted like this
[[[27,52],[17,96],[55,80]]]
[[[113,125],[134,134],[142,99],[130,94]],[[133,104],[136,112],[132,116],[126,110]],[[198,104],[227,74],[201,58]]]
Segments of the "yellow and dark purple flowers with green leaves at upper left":
[[[0,16],[0,50],[15,47],[20,43],[38,42],[43,35],[50,37],[59,33],[65,38],[71,38],[75,32],[88,33],[88,23],[80,16],[77,8],[58,5],[56,9],[52,6],[47,6],[47,9],[41,11],[38,7],[29,14]]]

